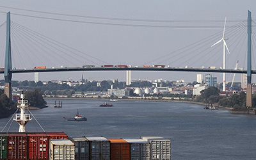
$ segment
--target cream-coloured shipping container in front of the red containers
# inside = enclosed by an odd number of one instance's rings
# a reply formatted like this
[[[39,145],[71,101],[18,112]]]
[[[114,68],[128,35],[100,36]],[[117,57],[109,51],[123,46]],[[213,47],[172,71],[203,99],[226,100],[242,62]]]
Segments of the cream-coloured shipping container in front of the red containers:
[[[75,145],[70,140],[50,140],[50,160],[75,160]]]

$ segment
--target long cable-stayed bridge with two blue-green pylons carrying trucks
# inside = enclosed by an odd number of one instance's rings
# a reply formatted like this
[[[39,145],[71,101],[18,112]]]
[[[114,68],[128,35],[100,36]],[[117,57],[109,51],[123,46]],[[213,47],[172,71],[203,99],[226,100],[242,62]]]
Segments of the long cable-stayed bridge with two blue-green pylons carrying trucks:
[[[246,28],[248,28],[248,30],[252,30],[252,24],[250,24],[250,27],[248,27],[249,25],[247,24],[247,22],[249,21],[252,21],[252,19],[250,18],[249,20],[249,17],[248,17],[248,20],[239,22],[239,24],[235,26],[230,26],[229,31],[233,31],[237,33],[237,34],[232,34],[233,39],[236,39],[236,41],[239,41],[239,42],[243,40],[243,43],[244,43],[246,36],[242,35],[241,33],[246,31],[247,30]],[[5,26],[4,24],[0,26],[0,31],[1,29],[4,30],[3,29],[3,26]],[[11,32],[11,28],[12,28],[12,32]],[[224,31],[225,31],[225,27],[224,27]],[[221,34],[218,33],[217,35],[211,35],[208,38],[205,38],[204,40],[195,42],[175,52],[164,54],[163,56],[157,56],[152,60],[154,61],[154,63],[158,63],[158,64],[167,63],[166,65],[160,65],[161,67],[154,67],[154,65],[148,65],[149,63],[152,63],[152,61],[151,62],[148,61],[146,63],[144,62],[144,64],[147,65],[147,67],[142,67],[143,65],[138,65],[133,67],[129,65],[127,67],[118,67],[118,66],[115,67],[115,65],[113,65],[113,67],[105,67],[104,65],[102,65],[101,67],[100,63],[101,64],[102,63],[109,64],[109,63],[107,63],[106,61],[100,60],[100,58],[92,56],[91,54],[85,54],[84,52],[78,51],[77,49],[74,49],[72,47],[68,47],[65,44],[60,44],[59,42],[56,42],[51,38],[47,38],[44,35],[41,35],[40,33],[36,33],[35,31],[31,31],[30,29],[24,26],[21,26],[20,24],[17,24],[15,22],[11,23],[10,12],[7,14],[6,33],[7,33],[6,34],[6,51],[5,51],[5,58],[4,58],[5,63],[4,63],[4,69],[0,70],[0,74],[4,74],[5,81],[6,83],[9,84],[9,86],[12,81],[12,74],[28,73],[28,72],[67,72],[67,71],[97,71],[97,70],[101,70],[101,71],[138,70],[139,71],[140,70],[140,71],[177,71],[177,72],[219,72],[219,73],[221,72],[221,73],[238,73],[238,74],[247,73],[249,76],[248,84],[251,83],[251,80],[250,80],[251,74],[256,74],[256,70],[251,69],[252,56],[248,56],[247,64],[250,63],[250,65],[247,65],[247,68],[250,68],[248,70],[244,70],[243,68],[245,67],[239,68],[239,69],[234,69],[234,68],[227,69],[225,68],[225,65],[223,68],[208,67],[209,60],[216,57],[217,57],[216,63],[213,63],[213,64],[218,64],[219,66],[221,66],[221,64],[219,64],[221,61],[221,54],[218,54],[218,55],[212,54],[211,56],[209,56],[209,52],[214,51],[214,49],[209,51],[209,47],[205,47],[205,46],[202,47],[202,44],[206,43],[207,44],[206,46],[209,46],[210,40],[212,40],[212,38],[216,39],[216,37],[222,35],[222,31],[220,32]],[[255,35],[252,33],[248,35],[250,35],[250,49],[248,47],[247,52],[249,53],[249,50],[250,50],[250,54],[251,54],[251,50],[252,50],[251,35],[253,35],[253,37],[255,37]],[[24,38],[22,38],[22,36]],[[230,36],[230,38],[232,36]],[[223,32],[223,38],[221,40],[223,41],[227,40],[227,39],[224,39],[224,32]],[[11,42],[12,42],[12,49],[11,49]],[[234,48],[236,48],[237,46],[238,45],[235,45]],[[248,46],[249,46],[249,38],[248,38]],[[227,47],[226,42],[223,48],[224,51],[225,51],[225,47]],[[11,53],[11,50],[12,50],[12,53]],[[237,54],[237,58],[238,56],[241,56],[245,60],[246,52],[242,50],[243,49],[241,49],[240,47],[239,52],[242,52],[243,54],[242,56],[240,54]],[[16,51],[16,54],[17,54],[15,58],[13,58],[12,56],[13,51]],[[187,52],[193,52],[195,54],[186,54]],[[24,55],[22,55],[22,53],[24,53]],[[207,53],[206,56],[205,56],[205,53]],[[64,54],[69,55],[69,57],[67,58],[63,56]],[[33,58],[33,56],[35,56],[35,58]],[[109,56],[111,55],[109,54]],[[196,58],[196,56],[199,56],[200,59]],[[22,60],[22,58],[24,57],[26,60]],[[95,65],[92,65],[93,67],[82,67],[82,65],[79,65],[79,63],[80,64],[84,63],[84,60],[82,60],[81,57],[82,58],[87,57],[87,59],[85,58],[87,61],[86,63],[95,63]],[[12,61],[14,62],[16,60],[19,60],[19,63],[16,63],[15,67],[12,67],[13,66]],[[68,61],[68,63],[72,63],[74,67],[70,67],[71,65],[66,65],[65,67],[58,67],[58,66],[50,67],[52,64],[55,64],[56,62],[61,63],[62,60]],[[40,65],[38,65],[39,64],[38,61],[40,62]],[[176,65],[178,67],[173,67],[175,66],[175,63],[180,63],[180,62],[182,63],[183,67],[180,67],[180,65],[177,65],[177,64]],[[204,65],[205,67],[203,65],[202,67],[191,67],[193,66],[193,64],[198,65],[198,62],[200,63],[204,62],[202,64],[206,63],[206,65]],[[227,62],[228,64],[230,63],[230,61],[228,60]],[[30,63],[31,65],[29,67],[20,67],[21,63],[24,63],[24,66],[25,64],[28,64],[28,63]],[[51,64],[51,65],[45,65],[45,63]],[[168,65],[168,63],[170,63],[171,65]],[[225,64],[225,58],[223,63]],[[37,68],[36,66],[43,66],[43,67]],[[6,86],[6,88],[8,87]]]

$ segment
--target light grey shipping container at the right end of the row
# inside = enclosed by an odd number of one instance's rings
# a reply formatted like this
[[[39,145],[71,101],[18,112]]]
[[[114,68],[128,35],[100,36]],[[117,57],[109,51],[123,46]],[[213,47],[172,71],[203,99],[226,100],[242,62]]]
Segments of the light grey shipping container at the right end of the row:
[[[141,136],[142,140],[150,143],[150,159],[152,160],[170,160],[171,159],[171,141],[159,136]]]

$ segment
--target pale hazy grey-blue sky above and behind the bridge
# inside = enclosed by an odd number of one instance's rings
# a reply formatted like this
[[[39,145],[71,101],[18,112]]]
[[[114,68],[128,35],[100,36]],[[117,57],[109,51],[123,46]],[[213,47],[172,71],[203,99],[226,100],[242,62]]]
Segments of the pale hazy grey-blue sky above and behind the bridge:
[[[226,68],[234,68],[237,60],[239,67],[246,68],[246,29],[236,28],[236,32],[232,26],[246,23],[243,20],[247,19],[248,10],[254,19],[253,6],[256,1],[0,0],[0,25],[10,11],[12,66],[16,68],[104,64],[219,68],[223,65],[223,45],[210,46],[220,40],[227,16],[225,37],[230,54],[226,54]],[[0,67],[4,67],[5,32],[3,24]],[[40,38],[35,36],[38,33]],[[254,63],[252,68],[256,68]],[[40,73],[40,80],[79,81],[82,74],[89,80],[125,81],[124,71],[47,72]],[[218,82],[222,81],[222,74],[212,75],[218,77]],[[227,81],[232,81],[232,76],[227,74]],[[193,82],[196,72],[132,72],[132,79]],[[34,80],[34,74],[13,74],[13,80]],[[240,75],[236,81],[241,81]],[[256,83],[254,76],[252,83]]]

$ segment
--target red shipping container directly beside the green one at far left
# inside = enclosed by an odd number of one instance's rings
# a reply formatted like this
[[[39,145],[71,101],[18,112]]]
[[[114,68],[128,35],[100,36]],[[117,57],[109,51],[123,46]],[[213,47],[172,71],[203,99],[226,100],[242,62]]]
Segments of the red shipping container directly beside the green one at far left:
[[[26,133],[8,133],[7,140],[8,159],[28,159],[28,141]]]

